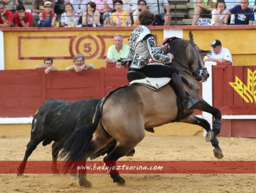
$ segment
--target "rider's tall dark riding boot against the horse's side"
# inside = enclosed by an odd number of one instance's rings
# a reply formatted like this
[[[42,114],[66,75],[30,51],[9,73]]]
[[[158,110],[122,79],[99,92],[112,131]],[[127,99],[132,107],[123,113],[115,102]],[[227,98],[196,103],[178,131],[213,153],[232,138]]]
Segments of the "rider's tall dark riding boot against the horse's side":
[[[180,75],[173,73],[171,75],[171,82],[172,82],[172,85],[174,86],[177,94],[182,99],[181,106],[183,107],[183,112],[185,112],[186,110],[188,110],[188,97],[186,95],[186,91],[182,84],[182,79],[181,79]]]

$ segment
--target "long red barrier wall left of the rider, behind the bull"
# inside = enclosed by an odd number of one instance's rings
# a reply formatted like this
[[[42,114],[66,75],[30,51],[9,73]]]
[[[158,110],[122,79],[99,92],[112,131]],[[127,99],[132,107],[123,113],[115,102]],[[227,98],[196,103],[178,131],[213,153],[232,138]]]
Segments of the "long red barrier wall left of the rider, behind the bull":
[[[49,98],[76,101],[104,97],[108,92],[128,84],[128,69],[100,68],[57,71],[45,74],[43,69],[0,71],[0,117],[34,116]]]

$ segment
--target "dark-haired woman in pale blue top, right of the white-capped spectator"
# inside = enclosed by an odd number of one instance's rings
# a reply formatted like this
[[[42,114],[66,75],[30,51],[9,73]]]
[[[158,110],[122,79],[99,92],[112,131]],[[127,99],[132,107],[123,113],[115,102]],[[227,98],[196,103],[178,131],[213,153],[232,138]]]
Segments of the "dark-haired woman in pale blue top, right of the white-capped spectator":
[[[61,26],[71,26],[74,22],[74,26],[78,24],[79,16],[74,12],[72,3],[68,2],[64,4],[65,12],[61,14]]]

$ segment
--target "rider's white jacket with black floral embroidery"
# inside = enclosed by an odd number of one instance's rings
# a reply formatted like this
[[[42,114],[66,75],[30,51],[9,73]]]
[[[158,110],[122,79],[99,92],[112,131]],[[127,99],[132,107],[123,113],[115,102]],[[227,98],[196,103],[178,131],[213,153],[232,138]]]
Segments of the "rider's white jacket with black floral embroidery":
[[[147,26],[136,28],[129,38],[130,53],[123,61],[129,61],[130,68],[140,69],[151,58],[154,62],[169,63],[171,57],[164,55],[162,46],[156,46],[154,35]]]

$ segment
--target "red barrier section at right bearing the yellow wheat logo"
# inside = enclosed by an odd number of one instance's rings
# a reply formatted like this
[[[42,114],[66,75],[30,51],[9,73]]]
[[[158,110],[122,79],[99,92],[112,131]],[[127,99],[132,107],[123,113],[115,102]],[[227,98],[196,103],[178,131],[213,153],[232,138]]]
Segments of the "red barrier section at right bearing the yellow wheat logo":
[[[240,96],[230,83],[244,94]],[[213,106],[222,115],[256,115],[256,66],[213,66],[212,88]],[[220,135],[256,137],[254,125],[255,119],[222,119]]]

